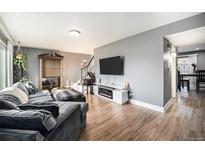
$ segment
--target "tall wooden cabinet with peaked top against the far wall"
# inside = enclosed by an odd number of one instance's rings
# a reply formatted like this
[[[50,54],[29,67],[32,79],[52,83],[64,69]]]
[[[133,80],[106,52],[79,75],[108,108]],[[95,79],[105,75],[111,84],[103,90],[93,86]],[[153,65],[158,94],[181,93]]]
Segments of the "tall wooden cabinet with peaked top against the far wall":
[[[40,89],[51,90],[62,87],[64,57],[54,52],[41,54],[38,57]]]

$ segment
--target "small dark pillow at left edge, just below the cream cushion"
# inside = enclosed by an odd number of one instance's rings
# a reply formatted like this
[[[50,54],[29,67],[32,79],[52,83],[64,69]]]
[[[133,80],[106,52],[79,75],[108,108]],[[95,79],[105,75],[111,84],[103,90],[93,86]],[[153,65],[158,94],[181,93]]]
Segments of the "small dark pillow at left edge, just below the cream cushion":
[[[18,98],[7,95],[7,94],[1,94],[0,95],[0,109],[16,109],[17,105],[21,104]]]

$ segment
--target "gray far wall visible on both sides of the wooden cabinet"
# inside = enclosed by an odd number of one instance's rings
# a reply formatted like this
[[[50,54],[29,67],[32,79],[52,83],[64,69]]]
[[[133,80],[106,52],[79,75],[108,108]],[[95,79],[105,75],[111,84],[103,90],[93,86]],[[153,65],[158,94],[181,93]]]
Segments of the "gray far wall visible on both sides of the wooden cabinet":
[[[38,55],[43,53],[49,53],[51,50],[27,48],[22,47],[23,53],[27,55],[27,73],[28,78],[39,87],[39,61]],[[84,59],[87,62],[90,60],[91,55],[78,54],[70,52],[59,52],[60,55],[64,56],[63,59],[63,85],[66,85],[66,80],[69,82],[76,82],[80,79],[80,68],[81,63]]]

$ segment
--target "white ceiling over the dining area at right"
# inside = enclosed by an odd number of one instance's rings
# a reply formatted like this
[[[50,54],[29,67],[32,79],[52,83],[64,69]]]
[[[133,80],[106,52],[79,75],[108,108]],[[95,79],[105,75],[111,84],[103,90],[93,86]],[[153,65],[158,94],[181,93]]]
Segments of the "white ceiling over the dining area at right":
[[[192,29],[166,36],[177,47],[200,45],[205,43],[205,27]]]

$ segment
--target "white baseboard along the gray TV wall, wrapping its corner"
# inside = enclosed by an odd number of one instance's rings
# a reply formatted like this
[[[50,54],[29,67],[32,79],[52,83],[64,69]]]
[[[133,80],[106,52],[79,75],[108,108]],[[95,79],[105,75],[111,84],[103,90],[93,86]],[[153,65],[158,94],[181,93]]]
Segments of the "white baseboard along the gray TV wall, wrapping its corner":
[[[145,108],[157,111],[157,112],[164,113],[171,106],[173,101],[172,101],[172,99],[170,99],[168,101],[168,103],[164,107],[160,107],[160,106],[157,106],[157,105],[149,104],[149,103],[142,102],[142,101],[135,100],[135,99],[130,99],[129,102],[131,104],[134,104],[134,105],[138,105],[138,106],[145,107]]]

